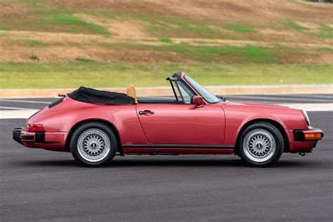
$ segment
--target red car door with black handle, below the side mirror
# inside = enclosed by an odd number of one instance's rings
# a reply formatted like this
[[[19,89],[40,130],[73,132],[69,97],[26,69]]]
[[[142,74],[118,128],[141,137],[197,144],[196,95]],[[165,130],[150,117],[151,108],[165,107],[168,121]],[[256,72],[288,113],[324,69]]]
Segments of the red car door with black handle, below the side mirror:
[[[218,105],[138,104],[136,112],[150,143],[223,145],[225,117]]]

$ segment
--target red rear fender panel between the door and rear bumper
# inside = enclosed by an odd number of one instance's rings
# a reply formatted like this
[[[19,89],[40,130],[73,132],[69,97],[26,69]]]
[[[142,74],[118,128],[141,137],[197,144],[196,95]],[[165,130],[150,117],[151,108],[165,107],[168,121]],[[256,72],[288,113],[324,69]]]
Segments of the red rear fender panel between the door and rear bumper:
[[[45,131],[66,132],[68,135],[79,123],[107,122],[114,126],[122,144],[148,143],[136,114],[136,105],[101,105],[81,103],[67,98],[65,105],[46,108],[29,119],[28,123],[43,124]]]

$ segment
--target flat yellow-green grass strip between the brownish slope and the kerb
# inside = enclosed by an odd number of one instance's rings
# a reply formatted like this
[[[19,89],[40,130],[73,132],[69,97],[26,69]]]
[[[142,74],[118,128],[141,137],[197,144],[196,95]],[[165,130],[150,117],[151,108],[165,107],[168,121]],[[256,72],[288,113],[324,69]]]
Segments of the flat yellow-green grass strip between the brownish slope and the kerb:
[[[0,89],[168,86],[165,77],[178,70],[200,84],[333,84],[333,65],[214,63],[0,63]]]

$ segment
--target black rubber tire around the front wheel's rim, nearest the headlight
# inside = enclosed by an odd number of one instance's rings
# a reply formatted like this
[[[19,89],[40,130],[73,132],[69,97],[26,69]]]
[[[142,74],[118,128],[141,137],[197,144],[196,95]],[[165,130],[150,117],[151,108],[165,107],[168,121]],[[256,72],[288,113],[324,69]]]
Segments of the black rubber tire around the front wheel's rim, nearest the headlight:
[[[255,129],[263,129],[268,131],[270,134],[272,134],[272,136],[274,137],[275,140],[275,152],[273,154],[272,157],[270,157],[270,159],[267,159],[265,162],[255,162],[252,159],[249,159],[249,157],[247,157],[247,155],[244,153],[243,150],[243,142],[244,142],[244,138],[247,136],[247,134]],[[273,126],[272,124],[268,124],[268,123],[263,123],[263,122],[259,122],[259,123],[254,123],[250,126],[247,126],[247,128],[244,130],[244,132],[242,133],[242,136],[240,138],[240,143],[238,144],[238,153],[240,155],[240,157],[242,158],[243,162],[249,166],[271,166],[273,164],[275,164],[275,162],[278,161],[278,159],[280,159],[283,150],[285,147],[285,143],[283,140],[283,136],[280,133],[280,131],[278,130],[278,128],[276,128],[275,126]]]

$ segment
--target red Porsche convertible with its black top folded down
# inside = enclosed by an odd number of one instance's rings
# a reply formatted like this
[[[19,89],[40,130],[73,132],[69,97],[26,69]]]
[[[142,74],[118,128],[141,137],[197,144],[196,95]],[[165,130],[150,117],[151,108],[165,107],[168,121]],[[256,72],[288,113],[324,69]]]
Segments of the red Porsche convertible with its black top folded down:
[[[311,152],[323,136],[303,110],[234,103],[214,96],[183,72],[166,80],[171,100],[80,87],[17,127],[27,148],[72,152],[84,166],[105,166],[115,155],[235,154],[249,166],[270,166],[282,152]]]

